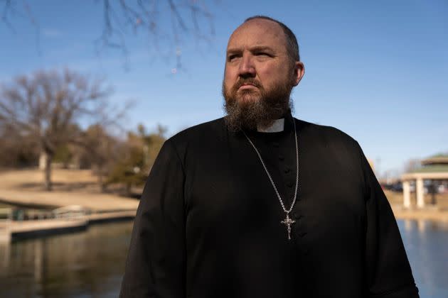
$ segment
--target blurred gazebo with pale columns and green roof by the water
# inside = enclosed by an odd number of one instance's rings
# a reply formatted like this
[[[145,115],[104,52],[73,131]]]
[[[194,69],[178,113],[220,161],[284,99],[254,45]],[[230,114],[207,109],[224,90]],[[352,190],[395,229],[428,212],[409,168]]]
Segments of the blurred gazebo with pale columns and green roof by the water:
[[[422,167],[407,172],[401,177],[403,184],[403,206],[411,207],[410,182],[415,181],[415,193],[417,194],[417,208],[425,207],[424,180],[442,180],[448,182],[448,155],[434,155],[422,160]]]

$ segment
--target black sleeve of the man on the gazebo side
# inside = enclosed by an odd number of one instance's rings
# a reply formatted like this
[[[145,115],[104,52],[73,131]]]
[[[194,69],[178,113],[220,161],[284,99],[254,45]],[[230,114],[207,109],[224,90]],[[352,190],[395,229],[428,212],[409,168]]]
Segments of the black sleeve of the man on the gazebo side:
[[[393,211],[359,145],[358,149],[366,185],[368,297],[419,297]]]

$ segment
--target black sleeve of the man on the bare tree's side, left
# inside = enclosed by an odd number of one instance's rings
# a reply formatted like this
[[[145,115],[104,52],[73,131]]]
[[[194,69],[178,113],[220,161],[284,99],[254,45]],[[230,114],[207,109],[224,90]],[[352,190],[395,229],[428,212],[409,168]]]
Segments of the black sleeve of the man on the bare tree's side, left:
[[[137,209],[119,297],[185,297],[184,177],[166,140]]]

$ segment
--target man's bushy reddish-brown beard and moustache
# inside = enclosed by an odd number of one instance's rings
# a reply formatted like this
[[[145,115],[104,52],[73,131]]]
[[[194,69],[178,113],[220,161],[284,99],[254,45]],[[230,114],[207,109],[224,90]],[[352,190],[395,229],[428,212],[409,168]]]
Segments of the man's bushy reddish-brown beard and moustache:
[[[238,90],[242,84],[253,84],[257,89]],[[291,109],[292,86],[279,84],[266,90],[255,79],[239,79],[230,90],[223,82],[225,123],[230,131],[242,129],[254,131],[258,126],[267,128]]]

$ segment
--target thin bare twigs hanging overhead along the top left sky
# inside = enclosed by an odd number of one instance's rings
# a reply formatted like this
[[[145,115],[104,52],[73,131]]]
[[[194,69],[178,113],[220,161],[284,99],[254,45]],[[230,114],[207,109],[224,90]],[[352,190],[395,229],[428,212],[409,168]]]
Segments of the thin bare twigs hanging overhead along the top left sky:
[[[3,2],[3,7],[1,3]],[[161,44],[168,44],[176,53],[176,68],[181,65],[181,43],[183,36],[191,35],[196,40],[210,42],[215,35],[213,14],[206,2],[201,0],[97,0],[102,5],[102,23],[99,23],[100,36],[95,40],[97,53],[104,48],[120,50],[127,60],[127,33],[137,35],[144,33],[151,45],[160,50]],[[218,0],[214,1],[215,4]],[[89,6],[85,6],[88,9]],[[14,18],[28,19],[36,28],[36,40],[39,40],[38,18],[33,16],[30,5],[26,0],[0,0],[2,9],[0,22],[14,30]],[[169,21],[166,28],[164,22]],[[38,45],[38,41],[36,43]]]

